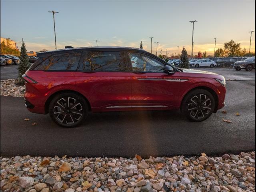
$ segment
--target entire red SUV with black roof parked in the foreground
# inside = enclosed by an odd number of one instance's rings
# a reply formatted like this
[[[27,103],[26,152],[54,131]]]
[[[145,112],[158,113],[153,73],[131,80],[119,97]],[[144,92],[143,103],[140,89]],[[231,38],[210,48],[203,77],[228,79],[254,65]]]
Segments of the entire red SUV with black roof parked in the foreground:
[[[138,48],[86,47],[41,52],[26,71],[24,102],[64,127],[88,112],[180,109],[206,120],[224,106],[225,78],[178,69]]]

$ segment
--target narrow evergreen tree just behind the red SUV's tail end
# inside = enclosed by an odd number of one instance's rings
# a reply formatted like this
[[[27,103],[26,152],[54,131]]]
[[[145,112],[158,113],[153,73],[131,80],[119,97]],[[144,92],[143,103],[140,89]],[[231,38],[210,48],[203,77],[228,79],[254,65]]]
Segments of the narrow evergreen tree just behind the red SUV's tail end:
[[[18,66],[18,72],[19,72],[18,78],[19,78],[20,85],[25,84],[25,81],[22,78],[22,75],[26,72],[26,70],[28,70],[29,66],[30,65],[28,64],[28,54],[27,54],[26,46],[22,39],[22,46],[20,47],[20,64]]]

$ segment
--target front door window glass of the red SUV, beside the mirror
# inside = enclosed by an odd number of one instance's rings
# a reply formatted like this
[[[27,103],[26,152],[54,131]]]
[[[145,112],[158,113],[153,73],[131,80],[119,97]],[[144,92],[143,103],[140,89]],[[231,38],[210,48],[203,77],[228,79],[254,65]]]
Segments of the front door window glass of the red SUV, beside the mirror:
[[[155,58],[141,53],[128,53],[135,72],[164,72],[164,64]]]

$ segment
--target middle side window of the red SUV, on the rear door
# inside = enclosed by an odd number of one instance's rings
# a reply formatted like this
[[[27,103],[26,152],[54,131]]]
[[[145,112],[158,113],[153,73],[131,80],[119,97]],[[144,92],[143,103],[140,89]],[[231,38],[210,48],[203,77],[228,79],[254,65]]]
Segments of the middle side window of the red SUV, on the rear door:
[[[80,71],[129,71],[123,51],[86,52],[80,62]]]

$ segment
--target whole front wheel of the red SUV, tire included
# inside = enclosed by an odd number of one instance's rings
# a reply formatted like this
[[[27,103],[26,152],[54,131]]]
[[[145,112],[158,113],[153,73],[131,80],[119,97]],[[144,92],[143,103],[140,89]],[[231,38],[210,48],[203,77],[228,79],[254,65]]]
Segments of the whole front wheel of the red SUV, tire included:
[[[192,122],[206,120],[211,116],[214,108],[214,97],[204,89],[195,89],[188,92],[181,105],[182,114]]]

